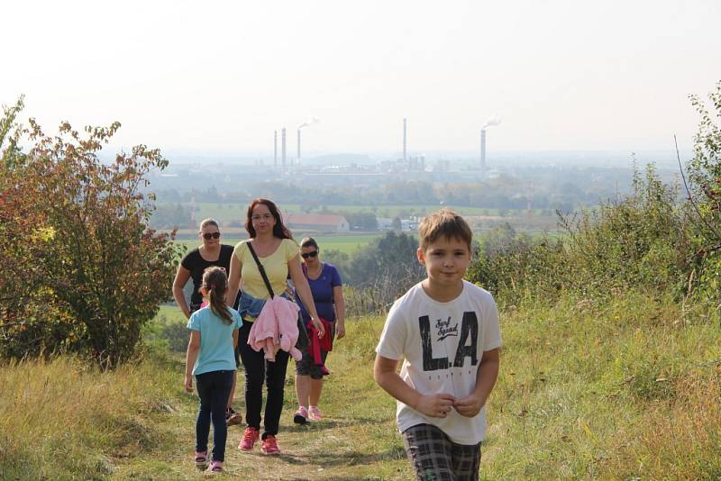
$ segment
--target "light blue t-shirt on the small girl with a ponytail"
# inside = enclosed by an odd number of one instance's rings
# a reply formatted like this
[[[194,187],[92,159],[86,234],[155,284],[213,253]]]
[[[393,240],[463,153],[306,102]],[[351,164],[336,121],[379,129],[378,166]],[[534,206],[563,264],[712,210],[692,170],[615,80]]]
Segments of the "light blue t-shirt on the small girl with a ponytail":
[[[213,313],[210,306],[193,313],[187,321],[187,329],[200,331],[200,351],[198,351],[193,374],[212,371],[232,371],[235,369],[233,351],[233,331],[242,326],[241,314],[229,309],[233,322],[226,324]]]

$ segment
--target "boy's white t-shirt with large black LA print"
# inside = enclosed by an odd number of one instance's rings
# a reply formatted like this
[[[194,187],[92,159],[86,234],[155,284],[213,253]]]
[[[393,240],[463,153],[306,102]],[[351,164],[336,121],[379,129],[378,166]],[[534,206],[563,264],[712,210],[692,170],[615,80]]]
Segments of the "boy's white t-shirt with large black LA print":
[[[388,312],[376,352],[404,359],[400,377],[422,395],[448,393],[461,398],[476,387],[483,351],[501,345],[498,310],[488,291],[463,281],[461,295],[434,301],[416,284]],[[455,443],[473,445],[486,437],[486,408],[472,417],[452,409],[433,418],[397,401],[398,429],[434,424]]]

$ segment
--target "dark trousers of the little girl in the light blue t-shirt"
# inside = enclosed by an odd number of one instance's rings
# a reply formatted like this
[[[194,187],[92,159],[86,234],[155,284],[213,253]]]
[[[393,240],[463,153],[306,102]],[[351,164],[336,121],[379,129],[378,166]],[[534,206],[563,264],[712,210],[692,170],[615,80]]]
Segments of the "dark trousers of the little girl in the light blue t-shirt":
[[[196,376],[200,409],[196,421],[196,451],[208,449],[210,422],[213,421],[213,460],[225,459],[225,440],[228,426],[225,424],[225,406],[233,388],[233,371],[211,371]]]

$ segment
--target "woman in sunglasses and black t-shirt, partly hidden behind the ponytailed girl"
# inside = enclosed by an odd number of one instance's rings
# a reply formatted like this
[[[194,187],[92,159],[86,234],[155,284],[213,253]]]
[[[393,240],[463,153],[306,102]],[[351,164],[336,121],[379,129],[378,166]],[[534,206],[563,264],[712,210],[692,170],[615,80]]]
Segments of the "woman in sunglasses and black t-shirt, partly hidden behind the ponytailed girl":
[[[203,242],[200,247],[189,251],[180,261],[178,273],[173,281],[173,297],[175,297],[178,307],[186,316],[190,318],[190,314],[195,313],[203,304],[203,295],[200,288],[203,286],[203,273],[206,268],[217,266],[225,269],[225,273],[229,274],[231,270],[231,257],[233,256],[233,246],[220,243],[220,229],[218,222],[214,219],[205,219],[200,222],[200,231],[197,233],[200,241]],[[186,295],[183,287],[187,284],[187,279],[193,279],[193,294],[190,295],[190,304],[187,304]],[[230,306],[235,304],[228,303]],[[240,364],[238,359],[236,365]],[[225,419],[229,426],[242,422],[242,416],[236,414],[231,407],[233,395],[235,393],[235,373],[233,373],[233,389],[225,413]]]

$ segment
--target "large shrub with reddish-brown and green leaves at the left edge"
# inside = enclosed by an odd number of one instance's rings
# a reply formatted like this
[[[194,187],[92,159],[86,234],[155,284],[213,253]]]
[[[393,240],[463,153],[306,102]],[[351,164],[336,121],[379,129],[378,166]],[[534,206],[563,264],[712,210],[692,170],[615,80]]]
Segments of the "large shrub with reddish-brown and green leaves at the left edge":
[[[0,136],[0,148],[10,139],[0,165],[0,355],[66,349],[115,366],[169,298],[174,232],[148,228],[154,196],[142,193],[145,175],[168,160],[139,145],[103,163],[119,123],[82,135],[62,123],[50,137],[32,119],[17,126],[21,108],[5,110],[0,131],[13,132]]]

